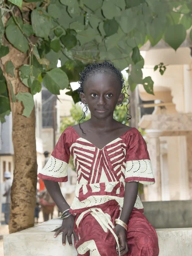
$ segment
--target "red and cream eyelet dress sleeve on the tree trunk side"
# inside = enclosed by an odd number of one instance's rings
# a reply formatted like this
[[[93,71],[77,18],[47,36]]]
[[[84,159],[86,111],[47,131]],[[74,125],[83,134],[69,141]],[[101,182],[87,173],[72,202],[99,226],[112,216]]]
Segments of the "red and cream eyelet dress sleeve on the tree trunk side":
[[[68,180],[67,166],[69,164],[69,160],[70,148],[67,143],[67,134],[64,131],[55,145],[51,157],[42,171],[38,174],[38,177],[43,180],[66,182]]]

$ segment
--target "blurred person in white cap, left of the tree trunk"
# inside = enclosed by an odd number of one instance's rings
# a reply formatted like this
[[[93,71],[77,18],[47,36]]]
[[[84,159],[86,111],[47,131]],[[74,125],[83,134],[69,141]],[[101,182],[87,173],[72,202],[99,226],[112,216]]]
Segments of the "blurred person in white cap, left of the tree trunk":
[[[6,203],[4,208],[5,222],[9,224],[9,215],[10,215],[10,203],[11,203],[11,187],[12,187],[12,175],[11,172],[4,172],[4,193],[3,196],[6,197]]]

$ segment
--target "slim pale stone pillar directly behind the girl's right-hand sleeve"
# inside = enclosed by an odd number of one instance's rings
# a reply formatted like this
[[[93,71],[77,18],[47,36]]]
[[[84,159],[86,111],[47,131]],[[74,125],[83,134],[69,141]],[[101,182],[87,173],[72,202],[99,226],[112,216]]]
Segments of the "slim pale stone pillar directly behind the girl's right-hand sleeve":
[[[146,201],[161,201],[161,171],[160,171],[160,130],[145,130],[147,147],[155,178],[155,184],[148,186]]]

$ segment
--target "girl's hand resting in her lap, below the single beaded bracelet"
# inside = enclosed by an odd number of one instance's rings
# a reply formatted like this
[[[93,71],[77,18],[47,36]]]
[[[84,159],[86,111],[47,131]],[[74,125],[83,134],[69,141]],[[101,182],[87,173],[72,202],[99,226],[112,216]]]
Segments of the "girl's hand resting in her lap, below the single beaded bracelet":
[[[123,256],[126,253],[128,253],[128,244],[127,244],[127,236],[126,236],[127,231],[125,230],[124,227],[117,224],[115,227],[115,233],[116,233],[116,236],[119,238],[120,256]],[[116,253],[117,255],[119,255],[118,249],[116,250]]]

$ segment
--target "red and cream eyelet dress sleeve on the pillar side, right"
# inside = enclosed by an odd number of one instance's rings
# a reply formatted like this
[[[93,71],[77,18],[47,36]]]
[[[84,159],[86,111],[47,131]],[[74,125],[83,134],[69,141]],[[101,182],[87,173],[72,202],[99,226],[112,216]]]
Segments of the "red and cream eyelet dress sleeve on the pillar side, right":
[[[147,145],[137,129],[131,134],[126,151],[125,182],[139,181],[142,184],[154,184],[151,161]]]

